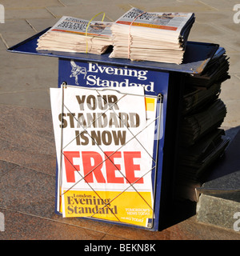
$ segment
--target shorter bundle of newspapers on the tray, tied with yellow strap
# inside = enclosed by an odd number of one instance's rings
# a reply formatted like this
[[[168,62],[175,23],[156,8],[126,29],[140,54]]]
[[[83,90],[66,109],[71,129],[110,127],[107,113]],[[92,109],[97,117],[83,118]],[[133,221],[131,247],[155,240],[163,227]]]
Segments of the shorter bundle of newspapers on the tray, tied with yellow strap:
[[[38,39],[37,50],[103,54],[112,45],[110,26],[63,16]]]

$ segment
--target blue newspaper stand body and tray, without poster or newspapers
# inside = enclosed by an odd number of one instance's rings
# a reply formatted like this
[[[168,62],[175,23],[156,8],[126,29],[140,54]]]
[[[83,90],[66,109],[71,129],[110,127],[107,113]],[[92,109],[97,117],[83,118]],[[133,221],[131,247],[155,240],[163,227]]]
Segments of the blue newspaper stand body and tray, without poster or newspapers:
[[[128,59],[109,58],[109,53],[94,55],[38,52],[36,50],[37,40],[45,31],[43,30],[24,42],[10,47],[8,51],[58,58],[58,87],[64,84],[100,88],[105,85],[102,81],[114,81],[118,86],[121,82],[122,86],[143,84],[146,97],[157,99],[159,106],[157,110],[158,118],[161,118],[161,122],[160,126],[157,126],[158,138],[154,138],[153,218],[149,219],[148,225],[145,227],[125,222],[100,221],[146,230],[161,230],[166,227],[166,218],[174,201],[174,170],[178,158],[178,127],[184,78],[186,74],[201,74],[207,62],[218,50],[218,45],[188,42],[184,61],[181,65],[160,62],[133,62]],[[76,69],[78,69],[78,72],[74,73]],[[123,70],[121,75],[117,72],[114,73],[116,69]],[[131,70],[131,73],[128,72],[129,70]],[[141,73],[141,71],[144,72]],[[134,74],[145,74],[145,77],[139,79]],[[88,80],[86,75],[89,75]],[[56,169],[58,181],[58,165]],[[58,185],[56,191],[58,191]],[[58,193],[56,194],[57,197]],[[58,210],[56,212],[59,213]],[[99,219],[97,218],[97,220]]]

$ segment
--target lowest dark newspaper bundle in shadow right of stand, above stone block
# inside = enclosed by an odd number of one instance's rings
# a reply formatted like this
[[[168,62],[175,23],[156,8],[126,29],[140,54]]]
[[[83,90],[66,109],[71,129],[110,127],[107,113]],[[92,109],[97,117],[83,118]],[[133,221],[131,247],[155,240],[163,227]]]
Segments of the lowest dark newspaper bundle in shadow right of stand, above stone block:
[[[196,201],[195,189],[202,186],[212,170],[211,165],[224,154],[230,138],[222,129],[206,134],[202,140],[180,150],[176,190],[178,198]]]

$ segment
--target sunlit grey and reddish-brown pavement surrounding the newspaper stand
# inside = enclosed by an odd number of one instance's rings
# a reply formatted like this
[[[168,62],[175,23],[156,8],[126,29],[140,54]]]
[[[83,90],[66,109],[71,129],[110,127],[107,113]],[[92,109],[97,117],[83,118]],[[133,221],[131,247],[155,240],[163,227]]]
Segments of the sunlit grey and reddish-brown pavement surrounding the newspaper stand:
[[[55,214],[55,148],[49,88],[58,86],[58,59],[6,51],[53,26],[63,15],[90,20],[104,11],[106,21],[114,21],[132,6],[147,11],[194,12],[196,21],[189,40],[218,43],[230,57],[231,78],[222,83],[220,95],[227,107],[222,126],[238,129],[239,0],[0,0],[0,4],[5,10],[5,23],[0,23],[0,212],[4,214],[5,230],[0,231],[0,239],[240,239],[240,232],[199,223],[194,214],[158,232]]]

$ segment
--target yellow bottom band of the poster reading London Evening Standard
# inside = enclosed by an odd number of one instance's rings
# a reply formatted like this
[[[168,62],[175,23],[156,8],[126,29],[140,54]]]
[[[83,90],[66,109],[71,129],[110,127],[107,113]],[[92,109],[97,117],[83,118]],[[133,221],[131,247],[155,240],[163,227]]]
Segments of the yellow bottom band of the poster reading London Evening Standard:
[[[92,217],[146,226],[153,218],[150,192],[64,191],[66,217]]]

